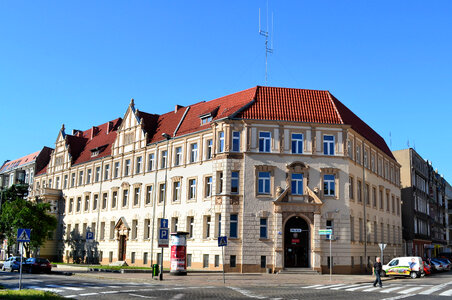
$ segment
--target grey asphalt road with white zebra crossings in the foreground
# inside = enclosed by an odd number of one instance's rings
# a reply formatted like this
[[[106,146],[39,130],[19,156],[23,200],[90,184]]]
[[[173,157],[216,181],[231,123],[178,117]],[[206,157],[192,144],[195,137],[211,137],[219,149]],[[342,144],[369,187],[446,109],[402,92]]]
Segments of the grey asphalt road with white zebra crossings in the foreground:
[[[126,275],[126,274],[124,274]],[[209,275],[206,275],[209,276]],[[18,288],[17,272],[0,272],[6,288]],[[452,299],[452,272],[418,279],[395,279],[374,288],[371,283],[275,284],[259,286],[168,285],[159,281],[128,282],[84,276],[24,274],[23,287],[56,292],[71,299]]]

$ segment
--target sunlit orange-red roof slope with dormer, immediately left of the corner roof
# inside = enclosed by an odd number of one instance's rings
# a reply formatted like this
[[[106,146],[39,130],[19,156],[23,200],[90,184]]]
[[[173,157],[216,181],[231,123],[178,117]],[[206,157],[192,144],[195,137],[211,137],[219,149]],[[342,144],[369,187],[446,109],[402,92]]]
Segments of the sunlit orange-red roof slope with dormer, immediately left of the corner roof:
[[[256,89],[254,87],[211,101],[203,101],[191,105],[176,136],[210,128],[210,123],[201,124],[201,116],[210,115],[212,121],[233,116],[253,101]]]

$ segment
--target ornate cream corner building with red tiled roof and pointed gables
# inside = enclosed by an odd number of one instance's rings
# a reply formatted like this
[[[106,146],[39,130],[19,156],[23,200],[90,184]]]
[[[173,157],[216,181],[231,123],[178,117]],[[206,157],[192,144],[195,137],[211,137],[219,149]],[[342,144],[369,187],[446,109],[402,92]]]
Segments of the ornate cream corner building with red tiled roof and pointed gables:
[[[162,115],[132,100],[123,118],[72,134],[63,126],[34,195],[54,203],[58,245],[45,251],[64,260],[149,265],[161,259],[156,232],[167,218],[171,231],[188,232],[189,269],[220,269],[217,237],[226,235],[227,271],[327,271],[332,262],[357,273],[378,243],[385,258],[401,254],[399,169],[328,91],[257,86]],[[332,258],[318,233],[326,228]]]

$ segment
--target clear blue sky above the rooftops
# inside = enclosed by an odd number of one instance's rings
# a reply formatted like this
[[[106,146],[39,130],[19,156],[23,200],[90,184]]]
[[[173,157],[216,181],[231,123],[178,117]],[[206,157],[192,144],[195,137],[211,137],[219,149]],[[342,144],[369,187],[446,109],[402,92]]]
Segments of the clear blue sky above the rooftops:
[[[1,1],[0,163],[138,109],[264,85],[266,1]],[[331,91],[452,181],[452,1],[269,1],[268,85]],[[265,18],[263,23],[265,24]],[[389,136],[392,135],[392,142]]]

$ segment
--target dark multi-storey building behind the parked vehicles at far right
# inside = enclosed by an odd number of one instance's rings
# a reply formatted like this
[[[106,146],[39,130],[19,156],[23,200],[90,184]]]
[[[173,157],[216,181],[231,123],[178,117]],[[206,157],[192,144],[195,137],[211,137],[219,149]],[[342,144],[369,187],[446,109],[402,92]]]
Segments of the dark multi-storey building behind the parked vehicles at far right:
[[[445,179],[413,148],[393,152],[401,164],[405,254],[434,257],[446,252]]]

